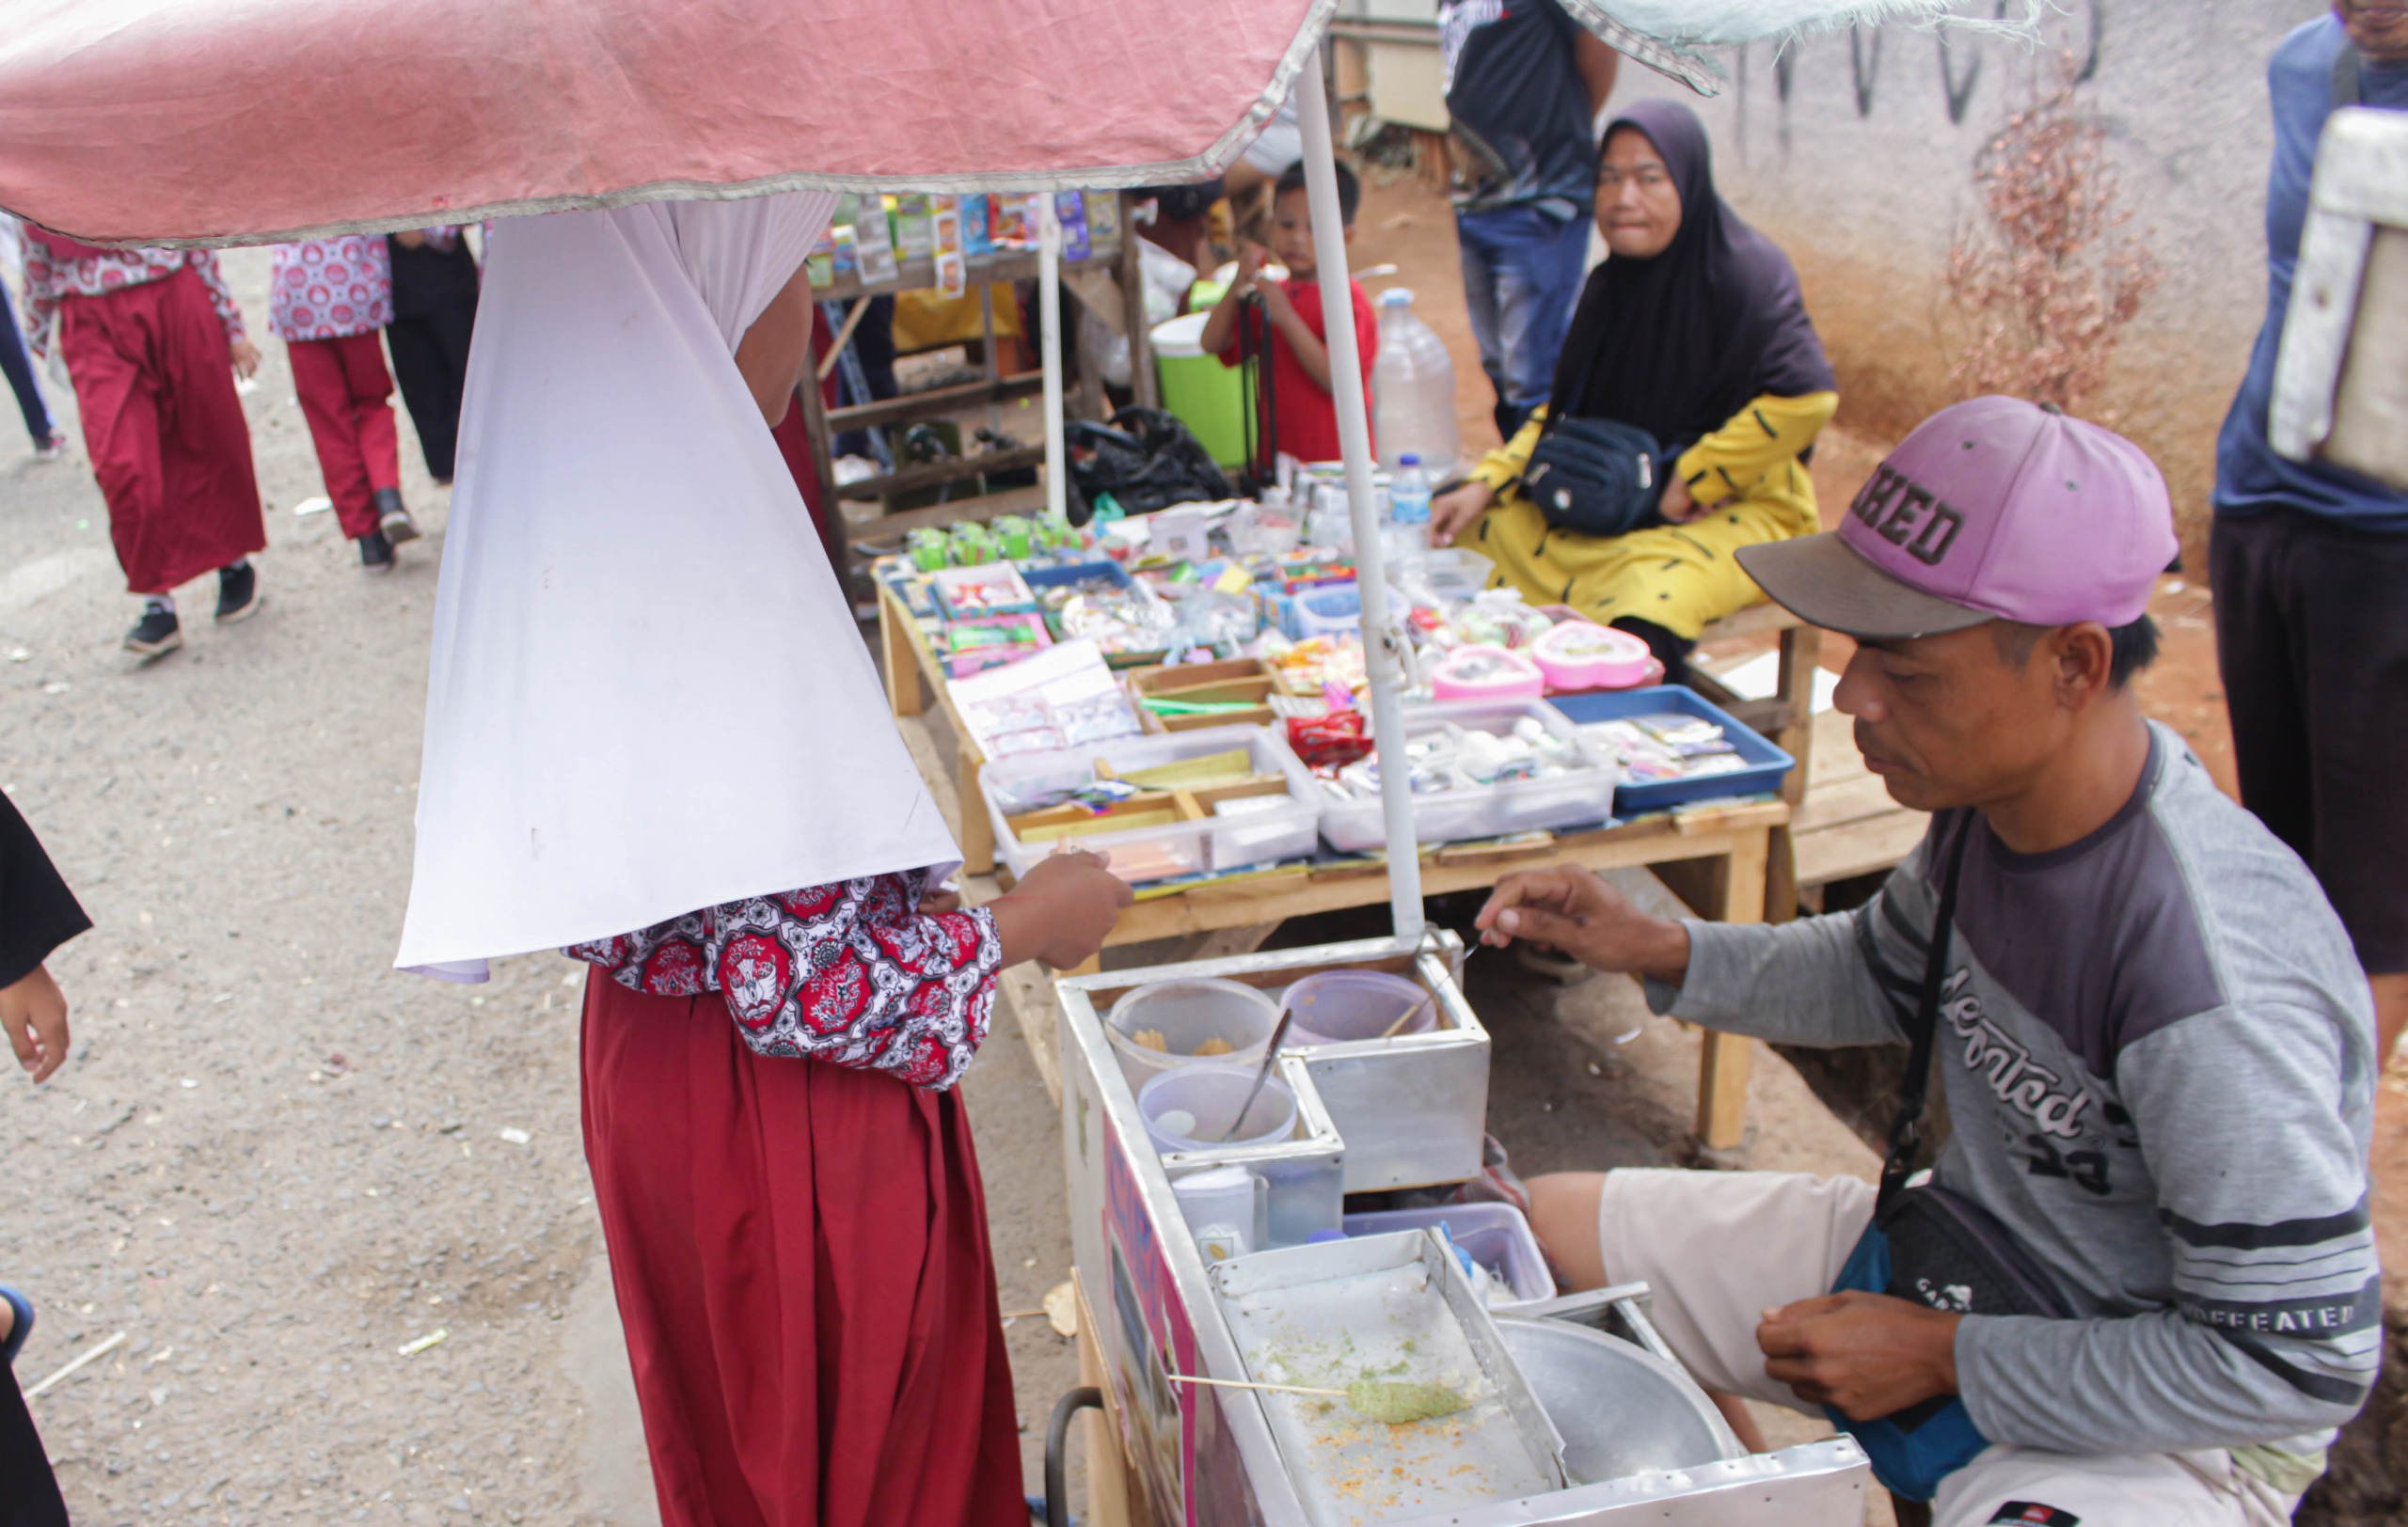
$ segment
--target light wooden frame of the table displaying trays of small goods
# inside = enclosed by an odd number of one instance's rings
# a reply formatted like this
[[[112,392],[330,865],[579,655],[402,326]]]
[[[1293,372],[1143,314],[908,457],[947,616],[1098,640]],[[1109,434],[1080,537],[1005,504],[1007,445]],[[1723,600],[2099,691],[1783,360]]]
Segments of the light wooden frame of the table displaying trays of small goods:
[[[944,667],[920,633],[910,609],[879,583],[879,655],[886,665],[886,698],[896,715],[920,715],[934,691],[937,711],[954,732],[954,780],[958,795],[958,843],[968,874],[995,869],[995,826],[987,819],[978,773],[985,756],[970,739],[946,694]],[[1587,865],[1589,869],[1674,869],[1666,884],[1700,918],[1717,922],[1765,920],[1765,867],[1775,833],[1789,826],[1789,802],[1765,800],[1698,812],[1642,816],[1618,826],[1556,833],[1531,845],[1435,845],[1421,855],[1426,896],[1479,891],[1510,869],[1531,865]],[[1341,865],[1293,865],[1269,874],[1199,884],[1185,891],[1146,894],[1120,915],[1105,947],[1180,935],[1259,927],[1353,906],[1387,901],[1387,869],[1375,860]],[[1748,1040],[1707,1031],[1698,1065],[1698,1139],[1712,1149],[1741,1144],[1748,1122]]]

